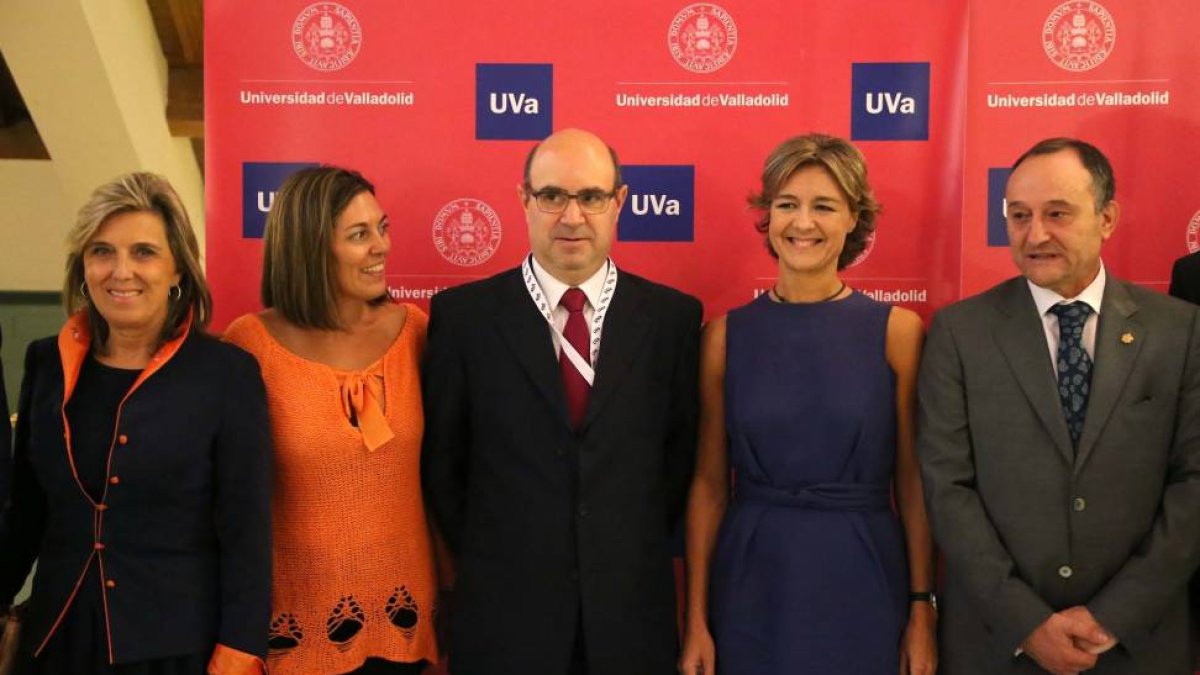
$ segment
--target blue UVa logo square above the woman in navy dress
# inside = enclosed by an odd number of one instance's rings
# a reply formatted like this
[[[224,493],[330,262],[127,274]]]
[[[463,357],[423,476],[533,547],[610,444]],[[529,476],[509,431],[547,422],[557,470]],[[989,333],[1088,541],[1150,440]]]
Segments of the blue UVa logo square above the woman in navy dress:
[[[853,64],[850,137],[929,141],[929,64]]]

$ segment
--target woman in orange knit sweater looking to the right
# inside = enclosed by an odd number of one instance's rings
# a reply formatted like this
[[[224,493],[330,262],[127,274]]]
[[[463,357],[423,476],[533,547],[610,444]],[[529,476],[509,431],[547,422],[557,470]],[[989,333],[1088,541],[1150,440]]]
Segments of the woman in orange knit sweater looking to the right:
[[[407,675],[437,658],[419,471],[426,316],[388,300],[390,247],[366,179],[293,174],[266,217],[266,309],[226,333],[258,358],[275,441],[272,675]]]

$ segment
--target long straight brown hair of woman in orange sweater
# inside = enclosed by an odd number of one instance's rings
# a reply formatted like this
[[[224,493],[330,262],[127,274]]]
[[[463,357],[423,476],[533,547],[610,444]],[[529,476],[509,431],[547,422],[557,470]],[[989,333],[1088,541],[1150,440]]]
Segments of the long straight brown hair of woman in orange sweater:
[[[301,328],[341,328],[334,227],[337,216],[362,192],[374,195],[374,185],[356,171],[334,166],[304,168],[283,181],[263,233],[264,307],[275,307]]]

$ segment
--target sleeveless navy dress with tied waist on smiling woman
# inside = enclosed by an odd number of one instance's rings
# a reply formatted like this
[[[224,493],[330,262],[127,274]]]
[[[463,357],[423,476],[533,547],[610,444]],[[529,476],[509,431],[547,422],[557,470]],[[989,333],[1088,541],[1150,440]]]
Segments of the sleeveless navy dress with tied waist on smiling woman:
[[[892,509],[889,305],[766,294],[730,312],[734,472],[709,590],[720,675],[894,675],[908,613]]]

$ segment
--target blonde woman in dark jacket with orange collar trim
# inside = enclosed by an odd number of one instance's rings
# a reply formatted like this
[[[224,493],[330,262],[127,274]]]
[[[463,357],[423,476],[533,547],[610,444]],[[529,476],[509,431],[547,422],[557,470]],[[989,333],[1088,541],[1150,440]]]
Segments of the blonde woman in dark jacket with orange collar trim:
[[[30,345],[0,605],[37,573],[18,671],[260,673],[270,437],[253,358],[211,299],[178,195],[134,173],[68,237],[58,338]]]

